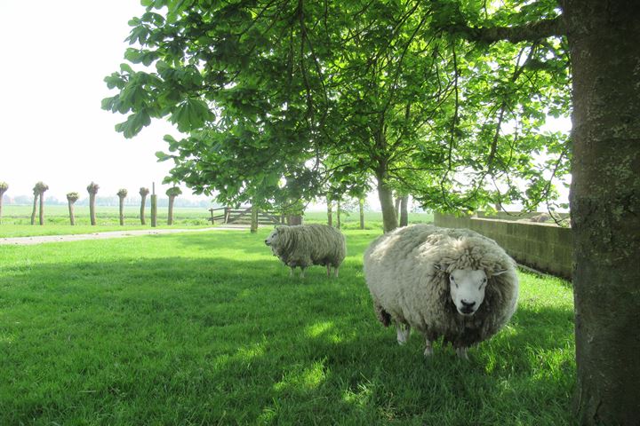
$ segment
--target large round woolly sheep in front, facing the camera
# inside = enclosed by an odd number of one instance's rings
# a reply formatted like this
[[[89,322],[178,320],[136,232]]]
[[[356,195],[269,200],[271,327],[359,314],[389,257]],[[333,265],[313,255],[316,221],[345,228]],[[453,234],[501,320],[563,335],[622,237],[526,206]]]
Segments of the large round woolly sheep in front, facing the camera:
[[[413,225],[373,241],[364,278],[376,315],[395,323],[397,342],[411,328],[426,342],[443,336],[460,358],[503,327],[516,311],[516,263],[495,241],[468,229]]]

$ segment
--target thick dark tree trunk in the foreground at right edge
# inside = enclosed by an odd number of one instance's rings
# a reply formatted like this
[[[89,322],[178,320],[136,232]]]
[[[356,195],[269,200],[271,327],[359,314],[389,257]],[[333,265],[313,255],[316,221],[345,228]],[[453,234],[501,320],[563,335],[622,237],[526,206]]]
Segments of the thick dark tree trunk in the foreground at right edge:
[[[640,7],[564,0],[573,67],[577,417],[640,413]]]

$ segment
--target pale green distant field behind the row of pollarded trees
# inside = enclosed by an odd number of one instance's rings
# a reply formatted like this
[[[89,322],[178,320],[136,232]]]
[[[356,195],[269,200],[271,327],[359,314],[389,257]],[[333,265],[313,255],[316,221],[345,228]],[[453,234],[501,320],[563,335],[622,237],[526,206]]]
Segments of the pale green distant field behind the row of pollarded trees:
[[[116,230],[147,229],[151,226],[151,209],[147,208],[145,217],[147,225],[140,225],[140,208],[127,206],[124,208],[124,226],[120,226],[119,212],[117,207],[96,208],[97,225],[92,226],[89,219],[88,206],[76,206],[76,225],[69,224],[67,206],[45,206],[44,226],[31,225],[32,206],[4,205],[2,222],[0,223],[0,238],[26,237],[33,235],[62,235],[73,233],[97,233]],[[176,208],[173,210],[172,227],[204,227],[211,225],[207,220],[210,216],[209,210],[205,208]],[[38,218],[36,217],[36,223]],[[304,216],[305,223],[326,224],[327,214],[324,211],[309,211]],[[157,225],[158,228],[167,227],[167,209],[159,208]],[[337,219],[333,215],[333,225]],[[431,213],[410,213],[409,222],[431,223],[433,215]],[[360,217],[358,213],[342,214],[340,225],[343,229],[358,229]],[[220,225],[216,223],[216,225]],[[267,226],[267,225],[262,225]],[[364,228],[368,230],[382,229],[382,213],[379,211],[367,211],[364,213]]]

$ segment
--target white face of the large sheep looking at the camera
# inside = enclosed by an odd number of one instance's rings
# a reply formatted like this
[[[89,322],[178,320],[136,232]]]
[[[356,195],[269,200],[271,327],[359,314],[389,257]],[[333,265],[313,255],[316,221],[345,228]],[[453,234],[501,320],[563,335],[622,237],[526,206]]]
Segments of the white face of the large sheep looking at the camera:
[[[449,287],[456,309],[461,315],[471,316],[484,301],[487,276],[484,271],[456,269],[449,274]]]

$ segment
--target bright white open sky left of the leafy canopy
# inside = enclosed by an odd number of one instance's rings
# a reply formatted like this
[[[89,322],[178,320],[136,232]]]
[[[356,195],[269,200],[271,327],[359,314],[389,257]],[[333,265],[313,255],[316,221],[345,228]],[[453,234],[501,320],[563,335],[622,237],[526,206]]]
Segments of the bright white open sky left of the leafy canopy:
[[[164,196],[169,162],[156,162],[166,148],[164,134],[176,132],[152,122],[136,138],[114,126],[124,115],[100,109],[112,96],[102,79],[124,62],[128,20],[144,12],[138,0],[0,0],[0,181],[8,196],[31,195],[37,181],[45,196],[64,200],[72,191],[115,195],[140,186]],[[182,187],[185,196],[190,190]],[[196,198],[194,196],[194,198]]]

